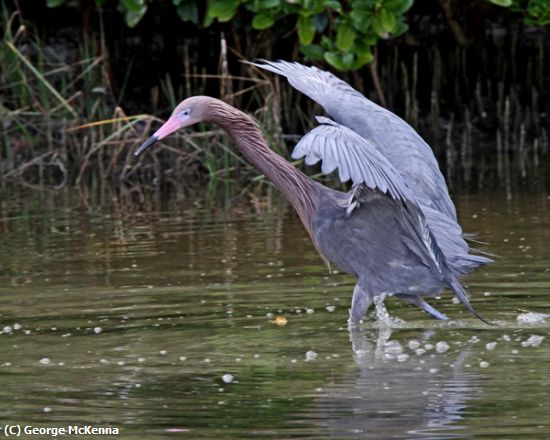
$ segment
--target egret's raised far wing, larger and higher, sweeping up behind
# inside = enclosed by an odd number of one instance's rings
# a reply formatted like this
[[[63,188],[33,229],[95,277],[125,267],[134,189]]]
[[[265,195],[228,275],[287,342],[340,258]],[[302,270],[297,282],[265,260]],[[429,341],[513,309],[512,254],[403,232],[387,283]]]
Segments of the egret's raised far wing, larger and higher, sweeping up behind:
[[[456,220],[456,210],[432,149],[403,119],[317,67],[286,61],[248,64],[285,76],[338,123],[369,139],[405,179],[419,203]]]

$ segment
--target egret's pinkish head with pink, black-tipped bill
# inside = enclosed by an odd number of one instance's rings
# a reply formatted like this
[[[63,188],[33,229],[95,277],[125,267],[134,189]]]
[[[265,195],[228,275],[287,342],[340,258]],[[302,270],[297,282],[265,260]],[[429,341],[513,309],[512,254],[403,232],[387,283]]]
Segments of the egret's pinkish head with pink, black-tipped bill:
[[[211,99],[207,96],[193,96],[180,102],[162,127],[141,144],[134,154],[138,156],[155,142],[160,141],[180,128],[189,127],[197,122],[208,120],[208,102]]]

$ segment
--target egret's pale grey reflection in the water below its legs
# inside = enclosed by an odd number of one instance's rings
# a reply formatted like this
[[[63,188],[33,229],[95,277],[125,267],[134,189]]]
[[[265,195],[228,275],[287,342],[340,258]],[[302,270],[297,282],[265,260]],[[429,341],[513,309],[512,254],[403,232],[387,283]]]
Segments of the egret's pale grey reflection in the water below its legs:
[[[327,437],[460,438],[453,431],[479,382],[464,371],[470,344],[448,355],[446,342],[436,348],[434,331],[408,342],[392,339],[392,332],[350,332],[358,370],[339,376],[317,402]]]

